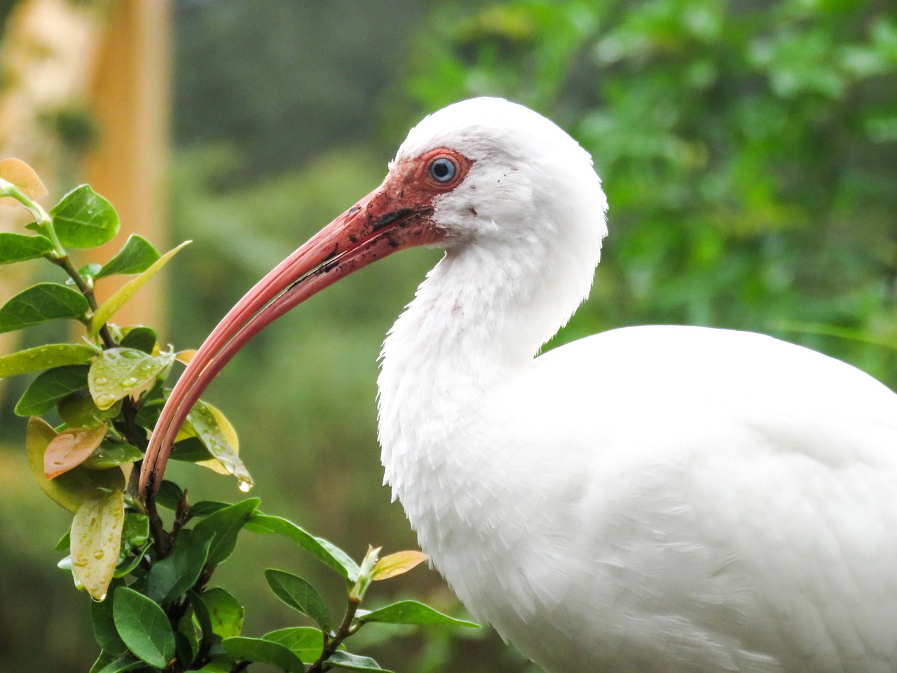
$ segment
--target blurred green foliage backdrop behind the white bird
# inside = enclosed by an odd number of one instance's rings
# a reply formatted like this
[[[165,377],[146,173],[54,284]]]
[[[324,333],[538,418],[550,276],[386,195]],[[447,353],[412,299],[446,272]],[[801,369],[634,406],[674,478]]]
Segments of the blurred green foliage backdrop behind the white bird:
[[[170,265],[163,338],[179,348],[379,184],[423,114],[485,94],[553,118],[604,180],[595,289],[555,343],[643,323],[750,329],[897,385],[893,2],[178,0],[173,21],[171,240],[154,242],[196,240]],[[356,556],[415,546],[380,485],[375,360],[438,257],[408,252],[328,289],[205,396],[236,425],[265,511]],[[83,673],[88,599],[52,550],[69,517],[30,482],[12,414],[26,384],[0,410],[0,671]],[[196,498],[239,496],[231,479],[172,472]],[[289,625],[261,568],[323,573],[292,546],[241,540],[218,579],[248,604],[248,634]],[[463,614],[435,572],[393,583]],[[491,632],[366,631],[355,650],[396,671],[532,668]]]

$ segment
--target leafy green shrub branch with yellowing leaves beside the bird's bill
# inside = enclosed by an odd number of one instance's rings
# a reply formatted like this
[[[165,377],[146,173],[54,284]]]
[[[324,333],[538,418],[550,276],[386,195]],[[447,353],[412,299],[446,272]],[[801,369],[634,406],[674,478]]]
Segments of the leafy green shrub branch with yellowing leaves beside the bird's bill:
[[[475,626],[414,601],[361,609],[372,581],[407,572],[425,559],[420,552],[379,558],[379,549],[369,549],[356,564],[327,540],[259,511],[257,498],[190,503],[186,488],[164,481],[158,494],[142,499],[136,476],[170,393],[165,381],[193,352],[161,345],[152,328],[119,326],[110,319],[186,243],[160,254],[149,241],[131,236],[105,264],[78,268],[68,249],[112,240],[118,214],[87,185],[74,188],[49,211],[35,200],[46,193],[27,164],[0,162],[0,205],[22,206],[34,218],[27,228],[36,232],[0,233],[0,264],[44,258],[67,276],[65,283],[33,285],[0,306],[0,332],[74,319],[85,334],[75,344],[0,356],[0,378],[39,372],[15,413],[30,417],[26,449],[38,485],[73,514],[57,550],[68,552],[59,566],[94,600],[91,621],[100,656],[91,673],[239,673],[254,662],[289,673],[381,671],[376,661],[345,650],[362,625]],[[99,304],[95,284],[112,275],[134,277]],[[56,427],[41,418],[53,411],[62,421]],[[222,411],[205,401],[187,416],[171,458],[235,476],[241,490],[252,485],[237,433]],[[292,540],[344,581],[346,607],[335,628],[308,581],[268,569],[274,595],[313,625],[261,637],[242,634],[243,606],[213,586],[213,578],[244,529]]]

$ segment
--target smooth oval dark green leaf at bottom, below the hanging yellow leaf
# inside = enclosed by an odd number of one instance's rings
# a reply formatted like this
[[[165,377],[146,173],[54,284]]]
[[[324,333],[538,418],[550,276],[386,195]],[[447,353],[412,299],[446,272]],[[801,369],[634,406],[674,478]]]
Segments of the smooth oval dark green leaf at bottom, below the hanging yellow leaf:
[[[112,616],[118,635],[135,656],[164,669],[174,657],[174,633],[162,608],[128,587],[115,590]]]

